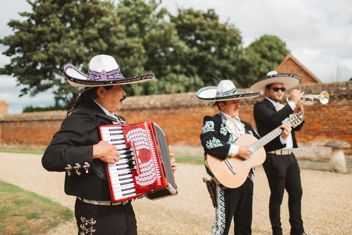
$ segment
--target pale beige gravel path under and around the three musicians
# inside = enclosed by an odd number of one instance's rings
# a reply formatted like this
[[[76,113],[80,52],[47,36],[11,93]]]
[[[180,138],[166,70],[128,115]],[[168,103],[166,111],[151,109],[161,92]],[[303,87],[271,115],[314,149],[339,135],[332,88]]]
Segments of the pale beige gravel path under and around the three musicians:
[[[17,185],[74,210],[75,197],[63,192],[64,173],[47,172],[41,155],[0,153],[0,180]],[[203,165],[179,164],[175,174],[178,195],[133,202],[139,235],[210,234],[214,209],[202,177]],[[352,174],[301,169],[302,218],[308,235],[352,234]],[[253,198],[253,235],[271,235],[269,186],[264,170],[256,168]],[[281,206],[283,234],[288,235],[287,193]],[[60,224],[46,235],[77,234],[75,220]],[[233,229],[230,229],[233,234]]]

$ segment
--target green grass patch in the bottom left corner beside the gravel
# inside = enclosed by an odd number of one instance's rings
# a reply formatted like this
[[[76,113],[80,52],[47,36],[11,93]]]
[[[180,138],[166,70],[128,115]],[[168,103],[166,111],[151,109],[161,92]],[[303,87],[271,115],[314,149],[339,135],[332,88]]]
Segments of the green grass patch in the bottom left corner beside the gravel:
[[[35,235],[72,216],[57,202],[0,181],[0,234]]]

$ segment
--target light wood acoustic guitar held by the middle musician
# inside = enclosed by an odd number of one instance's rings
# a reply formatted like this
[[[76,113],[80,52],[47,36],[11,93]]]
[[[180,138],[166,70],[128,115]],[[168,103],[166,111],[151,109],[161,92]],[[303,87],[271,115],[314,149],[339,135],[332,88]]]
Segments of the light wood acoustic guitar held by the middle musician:
[[[291,115],[284,123],[291,127],[296,127],[301,124],[303,120],[304,117],[302,113],[298,112]],[[252,152],[251,157],[247,160],[239,156],[227,156],[225,160],[222,160],[216,156],[207,154],[205,157],[205,165],[213,173],[215,178],[213,178],[213,180],[217,184],[222,184],[228,188],[241,186],[246,180],[250,169],[261,165],[265,161],[266,153],[263,146],[281,135],[281,133],[282,129],[278,127],[259,140],[250,134],[244,134],[238,137],[233,144],[237,146],[247,146]]]

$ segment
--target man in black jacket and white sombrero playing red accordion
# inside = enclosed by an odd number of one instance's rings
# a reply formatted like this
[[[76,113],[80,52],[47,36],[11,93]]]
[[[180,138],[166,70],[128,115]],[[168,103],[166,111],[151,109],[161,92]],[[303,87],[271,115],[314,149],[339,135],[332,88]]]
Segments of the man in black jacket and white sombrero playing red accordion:
[[[118,149],[100,141],[100,125],[125,123],[115,115],[126,93],[124,84],[148,81],[153,74],[124,78],[113,57],[94,56],[88,75],[67,63],[63,72],[72,86],[86,87],[69,105],[68,116],[42,158],[48,171],[63,172],[65,193],[76,196],[78,234],[137,234],[137,221],[130,200],[113,203],[106,181],[105,162],[119,161]],[[173,154],[170,154],[170,157]],[[177,163],[171,159],[172,171]]]

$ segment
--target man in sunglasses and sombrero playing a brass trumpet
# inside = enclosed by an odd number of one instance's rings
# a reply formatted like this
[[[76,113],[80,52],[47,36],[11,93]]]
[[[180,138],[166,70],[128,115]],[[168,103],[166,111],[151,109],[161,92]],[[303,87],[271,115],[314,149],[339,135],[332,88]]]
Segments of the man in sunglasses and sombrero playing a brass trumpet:
[[[255,91],[264,90],[265,92],[264,100],[256,103],[253,108],[254,121],[260,136],[264,136],[277,128],[291,113],[302,111],[303,114],[303,107],[299,105],[299,102],[304,92],[293,89],[288,104],[284,106],[279,103],[283,98],[285,89],[298,86],[301,83],[301,78],[294,74],[277,74],[276,71],[271,71],[267,75],[248,85]],[[295,155],[291,152],[292,148],[298,147],[295,131],[301,130],[303,123],[304,121],[301,125],[292,128],[290,135],[287,137],[285,148],[275,146],[276,139],[264,146],[266,159],[263,163],[263,168],[268,178],[271,192],[269,217],[273,235],[282,234],[280,206],[285,189],[289,196],[290,234],[306,235],[301,218],[302,186],[300,168]],[[268,149],[277,150],[268,151]]]

